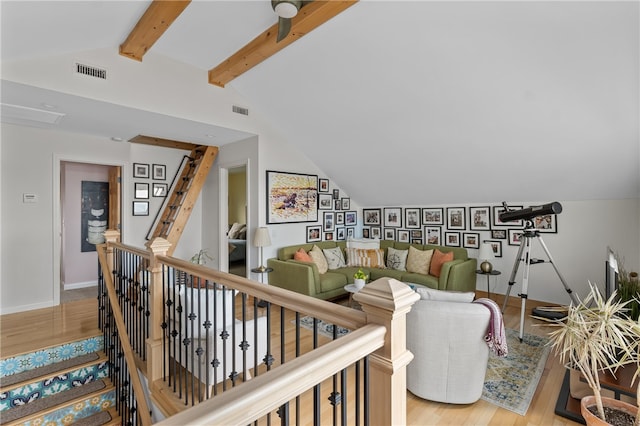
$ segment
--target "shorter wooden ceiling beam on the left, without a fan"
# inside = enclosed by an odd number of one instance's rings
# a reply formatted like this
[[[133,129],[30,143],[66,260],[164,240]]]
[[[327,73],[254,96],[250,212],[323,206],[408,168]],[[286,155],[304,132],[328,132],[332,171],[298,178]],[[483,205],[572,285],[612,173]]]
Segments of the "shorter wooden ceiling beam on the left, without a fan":
[[[153,0],[127,39],[120,54],[142,62],[142,57],[189,6],[191,0]]]

